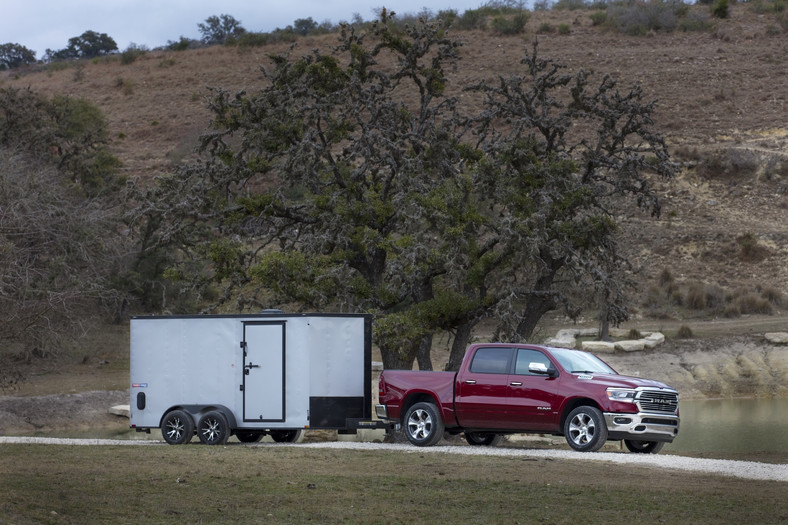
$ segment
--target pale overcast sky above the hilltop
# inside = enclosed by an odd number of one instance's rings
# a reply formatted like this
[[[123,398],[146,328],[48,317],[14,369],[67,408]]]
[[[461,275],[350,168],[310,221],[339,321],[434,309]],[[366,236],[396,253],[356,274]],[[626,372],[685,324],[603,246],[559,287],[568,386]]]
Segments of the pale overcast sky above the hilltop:
[[[2,0],[0,44],[21,44],[41,58],[47,49],[68,46],[68,39],[85,31],[106,33],[123,51],[129,44],[150,49],[177,41],[199,39],[197,24],[213,15],[228,14],[247,31],[269,32],[311,17],[337,24],[358,13],[372,20],[385,6],[400,14],[455,9],[462,14],[486,0]]]

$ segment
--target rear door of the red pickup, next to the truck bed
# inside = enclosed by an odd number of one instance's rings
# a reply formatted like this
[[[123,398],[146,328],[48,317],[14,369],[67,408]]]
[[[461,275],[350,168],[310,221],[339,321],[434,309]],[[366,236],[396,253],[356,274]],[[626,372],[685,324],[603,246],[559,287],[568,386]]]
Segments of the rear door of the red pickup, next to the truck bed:
[[[467,369],[457,375],[454,409],[466,428],[508,428],[507,396],[514,349],[479,347]]]

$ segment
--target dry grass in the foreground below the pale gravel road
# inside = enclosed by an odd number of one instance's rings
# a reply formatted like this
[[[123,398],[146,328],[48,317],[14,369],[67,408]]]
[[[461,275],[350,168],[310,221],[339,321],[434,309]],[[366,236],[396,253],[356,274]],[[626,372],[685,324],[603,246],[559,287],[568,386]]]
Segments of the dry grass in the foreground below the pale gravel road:
[[[781,483],[638,466],[243,445],[3,445],[8,523],[776,523]],[[42,495],[46,495],[42,497]],[[670,502],[666,504],[665,502]]]

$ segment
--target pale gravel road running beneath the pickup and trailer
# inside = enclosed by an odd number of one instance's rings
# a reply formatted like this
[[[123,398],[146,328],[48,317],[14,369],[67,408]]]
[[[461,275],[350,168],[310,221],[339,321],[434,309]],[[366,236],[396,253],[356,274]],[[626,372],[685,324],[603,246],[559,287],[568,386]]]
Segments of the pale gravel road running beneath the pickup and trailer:
[[[158,440],[120,440],[120,439],[65,439],[42,437],[2,437],[0,445],[7,443],[33,443],[43,445],[165,445]],[[388,452],[419,453],[419,454],[466,454],[479,456],[514,456],[562,459],[573,461],[607,461],[610,463],[637,466],[652,466],[659,469],[678,471],[705,472],[720,476],[766,481],[788,481],[788,464],[774,465],[753,461],[731,461],[722,459],[688,458],[670,454],[644,455],[611,452],[582,453],[569,450],[529,450],[506,447],[465,447],[438,446],[414,447],[407,444],[392,443],[358,443],[348,441],[325,443],[273,444],[258,443],[255,445],[232,444],[228,446],[255,447],[308,447],[345,450],[385,450]]]

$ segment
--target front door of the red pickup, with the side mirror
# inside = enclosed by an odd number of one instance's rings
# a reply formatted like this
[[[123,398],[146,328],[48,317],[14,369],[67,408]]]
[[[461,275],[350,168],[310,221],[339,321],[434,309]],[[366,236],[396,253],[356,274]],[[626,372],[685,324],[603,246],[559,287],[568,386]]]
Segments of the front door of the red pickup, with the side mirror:
[[[514,373],[508,376],[509,417],[512,430],[555,430],[558,428],[560,378],[536,373],[529,369],[533,363],[545,370],[556,369],[543,352],[534,348],[518,348]]]

